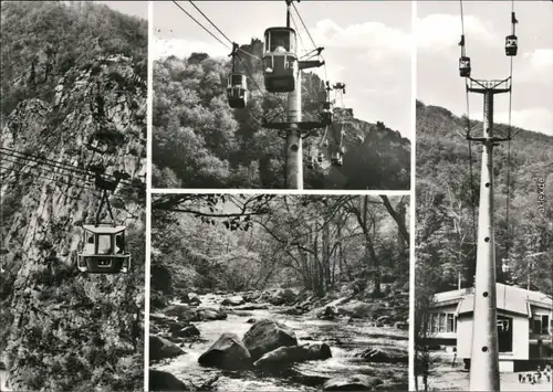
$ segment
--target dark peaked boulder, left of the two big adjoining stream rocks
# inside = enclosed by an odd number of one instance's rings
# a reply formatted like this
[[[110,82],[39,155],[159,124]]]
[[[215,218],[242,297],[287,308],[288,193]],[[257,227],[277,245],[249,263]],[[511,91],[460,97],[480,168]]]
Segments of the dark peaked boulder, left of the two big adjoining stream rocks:
[[[202,367],[237,370],[250,368],[252,359],[250,352],[236,333],[222,333],[198,358],[198,363]]]

